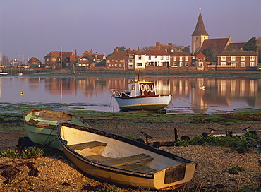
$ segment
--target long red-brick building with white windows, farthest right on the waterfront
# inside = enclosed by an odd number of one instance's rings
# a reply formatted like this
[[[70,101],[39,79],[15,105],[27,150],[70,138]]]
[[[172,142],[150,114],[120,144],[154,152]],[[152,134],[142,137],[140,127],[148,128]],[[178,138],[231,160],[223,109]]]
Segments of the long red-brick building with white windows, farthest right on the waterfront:
[[[217,56],[217,69],[257,70],[258,53],[243,49],[221,52]]]

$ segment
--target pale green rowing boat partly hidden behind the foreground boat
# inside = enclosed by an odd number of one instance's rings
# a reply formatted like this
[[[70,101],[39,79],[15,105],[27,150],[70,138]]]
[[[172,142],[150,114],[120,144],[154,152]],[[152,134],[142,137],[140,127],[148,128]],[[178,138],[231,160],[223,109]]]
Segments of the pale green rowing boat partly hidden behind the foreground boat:
[[[47,109],[32,109],[23,115],[23,122],[28,137],[32,142],[40,145],[48,145],[51,148],[62,150],[57,140],[56,128],[60,122],[70,122],[86,126],[85,121],[75,114],[59,112]]]

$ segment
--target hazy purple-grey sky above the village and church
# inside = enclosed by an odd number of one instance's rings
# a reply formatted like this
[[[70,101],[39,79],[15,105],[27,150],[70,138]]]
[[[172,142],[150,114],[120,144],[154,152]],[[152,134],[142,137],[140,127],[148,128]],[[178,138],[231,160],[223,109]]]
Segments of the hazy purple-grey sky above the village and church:
[[[261,36],[261,0],[0,0],[0,52],[44,61],[61,49],[107,56],[156,42],[191,48],[200,8],[210,39]]]

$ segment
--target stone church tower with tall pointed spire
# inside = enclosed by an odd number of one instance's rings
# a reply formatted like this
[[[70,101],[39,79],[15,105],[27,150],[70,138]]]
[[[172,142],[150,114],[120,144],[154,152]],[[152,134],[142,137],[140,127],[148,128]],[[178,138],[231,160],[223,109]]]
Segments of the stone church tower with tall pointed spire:
[[[208,39],[209,36],[207,31],[205,30],[205,25],[202,19],[201,12],[200,15],[198,16],[198,22],[195,27],[195,30],[191,36],[192,36],[191,49],[192,49],[192,54],[194,55],[196,52],[198,52],[204,40]]]

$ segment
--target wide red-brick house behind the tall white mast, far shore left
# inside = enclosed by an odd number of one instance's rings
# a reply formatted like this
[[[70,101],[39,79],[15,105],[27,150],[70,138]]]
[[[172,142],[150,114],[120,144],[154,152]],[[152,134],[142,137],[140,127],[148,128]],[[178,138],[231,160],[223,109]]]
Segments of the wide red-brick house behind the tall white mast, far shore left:
[[[44,56],[46,68],[72,68],[73,62],[77,59],[76,53],[73,52],[56,52],[52,51]]]

